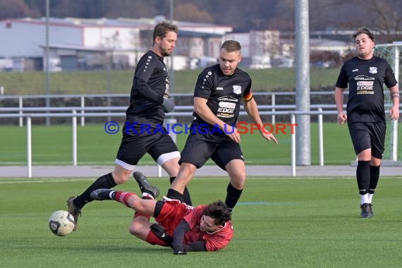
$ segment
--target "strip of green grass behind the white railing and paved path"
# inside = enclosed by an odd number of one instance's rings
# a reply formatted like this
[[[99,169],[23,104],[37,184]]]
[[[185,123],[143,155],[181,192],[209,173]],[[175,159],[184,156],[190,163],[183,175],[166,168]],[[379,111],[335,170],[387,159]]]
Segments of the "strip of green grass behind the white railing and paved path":
[[[106,119],[105,119],[106,122]],[[71,126],[32,126],[32,162],[36,165],[72,164]],[[318,164],[317,124],[312,123],[312,163]],[[291,164],[290,128],[286,134],[275,134],[279,145],[264,140],[258,131],[241,135],[241,147],[247,164]],[[26,128],[0,126],[0,163],[26,163]],[[78,126],[78,164],[112,165],[121,141],[121,133],[109,135],[103,125]],[[182,150],[187,134],[176,135]],[[334,142],[336,140],[336,142]],[[326,123],[324,126],[324,163],[350,164],[355,158],[346,126]],[[212,162],[211,162],[212,163]],[[146,154],[140,164],[154,164]]]

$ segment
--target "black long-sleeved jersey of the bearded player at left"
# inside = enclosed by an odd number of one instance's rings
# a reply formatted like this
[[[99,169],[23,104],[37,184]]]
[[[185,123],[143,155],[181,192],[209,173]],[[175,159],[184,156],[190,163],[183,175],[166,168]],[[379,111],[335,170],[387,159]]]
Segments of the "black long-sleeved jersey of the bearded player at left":
[[[164,59],[150,50],[135,68],[126,119],[152,126],[162,124],[165,116],[163,97],[169,97],[169,72]]]

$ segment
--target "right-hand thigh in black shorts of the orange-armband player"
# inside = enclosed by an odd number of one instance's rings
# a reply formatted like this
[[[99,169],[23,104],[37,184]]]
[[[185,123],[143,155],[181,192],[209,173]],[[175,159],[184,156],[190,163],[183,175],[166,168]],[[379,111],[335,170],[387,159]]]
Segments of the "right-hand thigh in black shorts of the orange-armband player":
[[[226,164],[234,159],[240,159],[244,162],[243,152],[240,145],[232,140],[221,142],[211,159],[223,170],[226,171]]]

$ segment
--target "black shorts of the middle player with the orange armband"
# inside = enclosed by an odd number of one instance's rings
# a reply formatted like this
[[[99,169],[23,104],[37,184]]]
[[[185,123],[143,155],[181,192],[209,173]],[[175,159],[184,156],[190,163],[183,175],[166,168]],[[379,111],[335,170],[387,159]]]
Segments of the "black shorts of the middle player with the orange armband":
[[[206,137],[200,133],[190,134],[181,152],[179,163],[190,163],[200,169],[209,158],[225,171],[226,164],[231,160],[241,159],[244,161],[240,145],[226,135],[224,137],[212,135]]]

